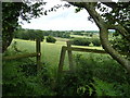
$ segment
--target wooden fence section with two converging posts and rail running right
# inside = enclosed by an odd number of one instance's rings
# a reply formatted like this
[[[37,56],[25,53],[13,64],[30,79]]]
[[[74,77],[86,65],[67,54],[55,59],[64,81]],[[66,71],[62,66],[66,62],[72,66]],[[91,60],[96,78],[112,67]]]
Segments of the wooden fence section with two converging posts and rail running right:
[[[64,65],[66,51],[68,51],[69,71],[63,71],[63,65]],[[70,41],[67,41],[67,47],[63,46],[62,50],[61,50],[61,57],[60,57],[60,63],[58,63],[58,70],[57,70],[58,74],[61,74],[62,72],[72,72],[73,71],[74,63],[73,63],[72,51],[93,52],[93,53],[102,53],[102,54],[106,54],[107,53],[104,50],[72,47]],[[127,54],[125,52],[120,52],[120,53],[123,54],[123,56]]]

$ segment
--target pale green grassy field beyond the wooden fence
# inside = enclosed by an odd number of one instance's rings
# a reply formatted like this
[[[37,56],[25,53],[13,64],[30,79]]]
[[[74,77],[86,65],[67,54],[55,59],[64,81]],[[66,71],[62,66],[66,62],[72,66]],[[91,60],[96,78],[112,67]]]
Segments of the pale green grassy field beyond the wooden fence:
[[[64,40],[64,41],[63,41]],[[60,61],[60,54],[62,46],[66,46],[66,39],[58,38],[58,40],[55,44],[50,42],[41,42],[41,60],[42,62],[49,63],[50,65],[57,66]],[[22,40],[22,39],[14,39],[12,44],[16,41],[16,46],[20,50],[26,50],[29,52],[36,51],[36,42],[30,40]],[[84,47],[84,46],[73,46],[73,47],[80,47],[80,48],[90,48],[90,49],[102,49],[102,47]],[[84,52],[73,52],[73,54],[77,53],[83,53],[86,57],[88,53]],[[64,64],[68,66],[68,58],[66,53],[65,62]]]

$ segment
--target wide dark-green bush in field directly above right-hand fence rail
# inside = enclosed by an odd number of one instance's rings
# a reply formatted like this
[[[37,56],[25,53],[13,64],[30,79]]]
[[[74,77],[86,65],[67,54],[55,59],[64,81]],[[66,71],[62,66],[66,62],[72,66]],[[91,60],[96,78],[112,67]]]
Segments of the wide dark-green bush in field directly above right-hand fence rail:
[[[89,38],[74,38],[73,45],[77,46],[89,46],[91,44]]]

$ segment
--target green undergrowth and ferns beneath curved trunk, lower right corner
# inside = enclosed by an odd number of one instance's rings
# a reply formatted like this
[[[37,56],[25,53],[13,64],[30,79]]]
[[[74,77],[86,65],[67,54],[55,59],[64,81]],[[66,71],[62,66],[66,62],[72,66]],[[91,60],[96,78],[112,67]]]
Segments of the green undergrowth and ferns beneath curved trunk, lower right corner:
[[[130,75],[109,57],[90,54],[86,59],[84,56],[77,54],[75,61],[76,65],[86,65],[93,73],[93,82],[90,83],[92,86],[87,86],[89,94],[95,91],[96,96],[126,96],[129,98],[130,93],[127,89],[130,89]],[[83,74],[83,76],[86,75]],[[81,86],[80,89],[84,90],[84,87]]]

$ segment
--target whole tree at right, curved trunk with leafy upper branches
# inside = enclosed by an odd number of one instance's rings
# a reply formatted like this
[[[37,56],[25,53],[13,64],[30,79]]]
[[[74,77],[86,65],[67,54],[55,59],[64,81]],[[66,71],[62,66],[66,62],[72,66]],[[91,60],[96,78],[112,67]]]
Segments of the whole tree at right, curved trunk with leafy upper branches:
[[[100,0],[99,0],[100,1]],[[115,50],[109,41],[108,41],[108,29],[117,30],[127,41],[130,42],[130,16],[129,9],[130,2],[69,2],[70,4],[78,7],[79,9],[86,9],[90,17],[95,22],[98,27],[100,28],[100,39],[104,50],[112,56],[118,63],[123,65],[128,72],[130,72],[130,61],[121,56],[117,50]],[[108,13],[100,14],[95,10],[95,8],[100,9],[102,12],[105,11],[106,8],[102,7],[102,4],[107,5],[112,9]],[[121,20],[120,20],[121,19]]]

